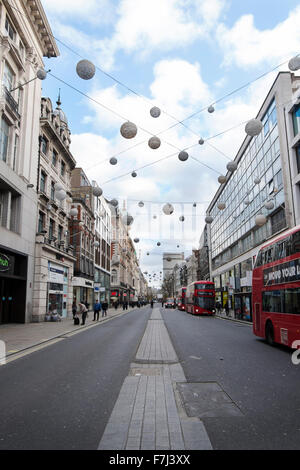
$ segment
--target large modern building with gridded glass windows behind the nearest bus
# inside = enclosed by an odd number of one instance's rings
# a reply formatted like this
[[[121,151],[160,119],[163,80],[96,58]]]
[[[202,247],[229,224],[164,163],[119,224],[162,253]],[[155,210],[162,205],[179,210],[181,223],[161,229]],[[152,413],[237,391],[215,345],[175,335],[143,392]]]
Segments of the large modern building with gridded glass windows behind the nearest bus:
[[[211,276],[224,307],[251,320],[252,268],[259,247],[299,223],[300,77],[280,72],[257,119],[256,137],[246,136],[235,162],[208,207]],[[219,203],[225,204],[220,210]],[[266,202],[268,209],[265,207]],[[220,206],[220,207],[224,207]],[[259,227],[255,217],[267,223]]]

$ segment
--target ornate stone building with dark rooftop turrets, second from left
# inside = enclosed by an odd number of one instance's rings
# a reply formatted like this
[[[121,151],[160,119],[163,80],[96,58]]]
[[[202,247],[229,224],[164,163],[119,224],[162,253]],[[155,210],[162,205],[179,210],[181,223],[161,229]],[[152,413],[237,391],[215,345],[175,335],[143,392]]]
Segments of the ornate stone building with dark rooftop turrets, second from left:
[[[60,97],[56,109],[49,98],[41,100],[32,321],[43,321],[45,314],[54,310],[64,318],[72,314],[76,258],[67,231],[71,172],[76,162],[69,149],[68,120],[60,105]],[[57,185],[65,192],[63,200],[57,199]]]

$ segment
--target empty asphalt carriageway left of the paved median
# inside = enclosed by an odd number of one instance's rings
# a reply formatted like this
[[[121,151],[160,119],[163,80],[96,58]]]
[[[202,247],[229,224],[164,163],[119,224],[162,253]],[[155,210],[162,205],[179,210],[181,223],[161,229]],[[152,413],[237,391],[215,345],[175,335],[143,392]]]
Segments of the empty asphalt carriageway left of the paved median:
[[[0,449],[97,449],[151,310],[0,367]]]

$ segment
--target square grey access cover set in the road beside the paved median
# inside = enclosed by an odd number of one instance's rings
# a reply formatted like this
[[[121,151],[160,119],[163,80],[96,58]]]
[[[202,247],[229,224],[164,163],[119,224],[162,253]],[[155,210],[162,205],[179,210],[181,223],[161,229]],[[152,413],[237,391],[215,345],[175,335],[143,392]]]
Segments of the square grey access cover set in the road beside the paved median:
[[[177,388],[188,416],[243,416],[217,382],[177,383]]]

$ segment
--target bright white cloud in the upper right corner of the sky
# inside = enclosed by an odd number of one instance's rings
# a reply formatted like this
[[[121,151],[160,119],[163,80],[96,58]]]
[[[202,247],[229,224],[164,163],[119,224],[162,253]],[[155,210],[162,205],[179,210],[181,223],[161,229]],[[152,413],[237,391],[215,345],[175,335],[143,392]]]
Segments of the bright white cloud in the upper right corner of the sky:
[[[216,37],[224,51],[224,64],[238,67],[257,67],[288,59],[300,52],[300,6],[273,29],[259,30],[253,15],[243,15],[230,29],[225,24],[217,27]]]

